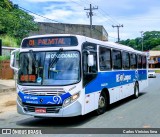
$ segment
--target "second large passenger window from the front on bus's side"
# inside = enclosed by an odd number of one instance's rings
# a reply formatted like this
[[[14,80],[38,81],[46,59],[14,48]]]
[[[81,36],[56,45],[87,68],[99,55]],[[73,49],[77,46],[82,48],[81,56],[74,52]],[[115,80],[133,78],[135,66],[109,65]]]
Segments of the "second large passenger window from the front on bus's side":
[[[121,51],[118,51],[118,50],[112,51],[112,64],[113,64],[113,69],[121,69],[122,68]]]

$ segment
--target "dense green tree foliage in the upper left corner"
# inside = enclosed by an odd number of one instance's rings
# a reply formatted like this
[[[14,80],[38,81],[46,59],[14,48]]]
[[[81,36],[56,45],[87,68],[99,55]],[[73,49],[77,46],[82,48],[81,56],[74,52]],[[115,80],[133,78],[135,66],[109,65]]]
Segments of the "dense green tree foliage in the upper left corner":
[[[34,17],[19,9],[9,0],[0,1],[0,35],[9,35],[18,40],[38,29]]]

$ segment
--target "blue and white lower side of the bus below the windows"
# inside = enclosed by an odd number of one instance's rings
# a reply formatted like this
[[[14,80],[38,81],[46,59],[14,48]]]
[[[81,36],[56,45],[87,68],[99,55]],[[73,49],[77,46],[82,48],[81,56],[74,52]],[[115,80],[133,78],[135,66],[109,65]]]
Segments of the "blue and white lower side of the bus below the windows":
[[[99,95],[104,88],[108,89],[112,104],[133,95],[136,81],[140,82],[140,90],[147,86],[146,70],[99,72],[85,87],[85,113],[98,108]]]

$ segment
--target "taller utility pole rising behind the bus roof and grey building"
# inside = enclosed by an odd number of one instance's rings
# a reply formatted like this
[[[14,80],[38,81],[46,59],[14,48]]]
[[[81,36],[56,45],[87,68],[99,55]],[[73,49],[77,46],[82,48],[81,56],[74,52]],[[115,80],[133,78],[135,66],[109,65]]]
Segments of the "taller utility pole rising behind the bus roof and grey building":
[[[92,4],[90,4],[90,8],[89,9],[84,8],[84,10],[89,10],[89,13],[87,15],[90,18],[90,37],[92,37],[92,16],[93,16],[93,10],[97,10],[97,9],[98,9],[98,7],[92,7]]]

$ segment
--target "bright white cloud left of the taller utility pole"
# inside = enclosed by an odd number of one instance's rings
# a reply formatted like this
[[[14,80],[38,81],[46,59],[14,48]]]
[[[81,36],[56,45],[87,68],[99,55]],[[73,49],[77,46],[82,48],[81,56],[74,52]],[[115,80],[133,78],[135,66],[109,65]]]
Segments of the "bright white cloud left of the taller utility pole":
[[[51,4],[43,7],[43,16],[58,20],[61,23],[86,23],[86,13],[80,6],[75,3],[59,3]],[[84,19],[85,18],[85,19]]]

